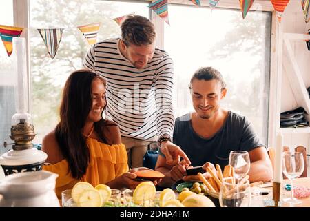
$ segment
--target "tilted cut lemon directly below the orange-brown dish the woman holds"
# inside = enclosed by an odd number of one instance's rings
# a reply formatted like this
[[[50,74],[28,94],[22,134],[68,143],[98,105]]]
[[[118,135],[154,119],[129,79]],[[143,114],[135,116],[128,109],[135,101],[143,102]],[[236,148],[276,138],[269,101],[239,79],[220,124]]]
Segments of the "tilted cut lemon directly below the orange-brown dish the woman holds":
[[[134,189],[132,200],[135,204],[144,204],[143,202],[152,200],[156,194],[156,188],[152,182],[141,182]]]

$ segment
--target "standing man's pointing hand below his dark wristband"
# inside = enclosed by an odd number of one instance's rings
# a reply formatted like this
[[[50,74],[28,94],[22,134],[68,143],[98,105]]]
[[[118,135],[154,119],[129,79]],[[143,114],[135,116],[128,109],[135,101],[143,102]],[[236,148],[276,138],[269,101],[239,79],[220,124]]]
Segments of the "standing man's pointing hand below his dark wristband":
[[[161,152],[165,154],[166,162],[169,165],[175,165],[180,162],[180,157],[183,157],[187,164],[191,164],[191,161],[184,151],[182,151],[179,146],[176,146],[176,144],[169,142],[169,140],[161,143]]]

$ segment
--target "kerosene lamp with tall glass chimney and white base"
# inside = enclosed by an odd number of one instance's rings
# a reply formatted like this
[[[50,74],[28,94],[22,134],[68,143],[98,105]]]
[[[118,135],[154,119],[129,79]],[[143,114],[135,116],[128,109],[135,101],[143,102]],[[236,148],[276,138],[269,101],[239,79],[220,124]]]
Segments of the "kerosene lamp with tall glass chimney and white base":
[[[12,116],[11,134],[14,143],[12,149],[0,157],[0,165],[4,174],[39,171],[48,155],[34,148],[34,126],[28,103],[28,68],[25,53],[25,38],[13,38],[14,93],[16,112]],[[6,147],[8,144],[4,142]]]

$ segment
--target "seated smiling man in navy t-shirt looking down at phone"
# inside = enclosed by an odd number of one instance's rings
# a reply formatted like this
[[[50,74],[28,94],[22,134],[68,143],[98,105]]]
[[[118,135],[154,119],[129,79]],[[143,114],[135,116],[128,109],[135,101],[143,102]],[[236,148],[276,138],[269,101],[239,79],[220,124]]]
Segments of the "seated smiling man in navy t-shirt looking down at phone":
[[[228,164],[230,151],[248,151],[250,182],[269,182],[273,171],[265,145],[246,117],[220,106],[227,89],[218,70],[211,67],[198,69],[189,89],[195,112],[176,119],[173,142],[186,153],[192,166],[214,168],[213,164],[219,164],[223,169]],[[189,166],[185,160],[169,165],[165,155],[159,153],[156,170],[165,174],[160,186],[172,186],[180,180],[193,178],[185,177]],[[209,173],[203,175],[209,177]]]

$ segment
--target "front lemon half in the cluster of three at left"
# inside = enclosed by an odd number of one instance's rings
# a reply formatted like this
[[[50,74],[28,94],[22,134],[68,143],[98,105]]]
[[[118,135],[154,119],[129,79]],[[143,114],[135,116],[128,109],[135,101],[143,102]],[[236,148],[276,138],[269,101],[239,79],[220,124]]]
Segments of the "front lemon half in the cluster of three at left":
[[[87,189],[83,191],[77,203],[81,207],[100,207],[103,204],[101,193],[96,189]]]

